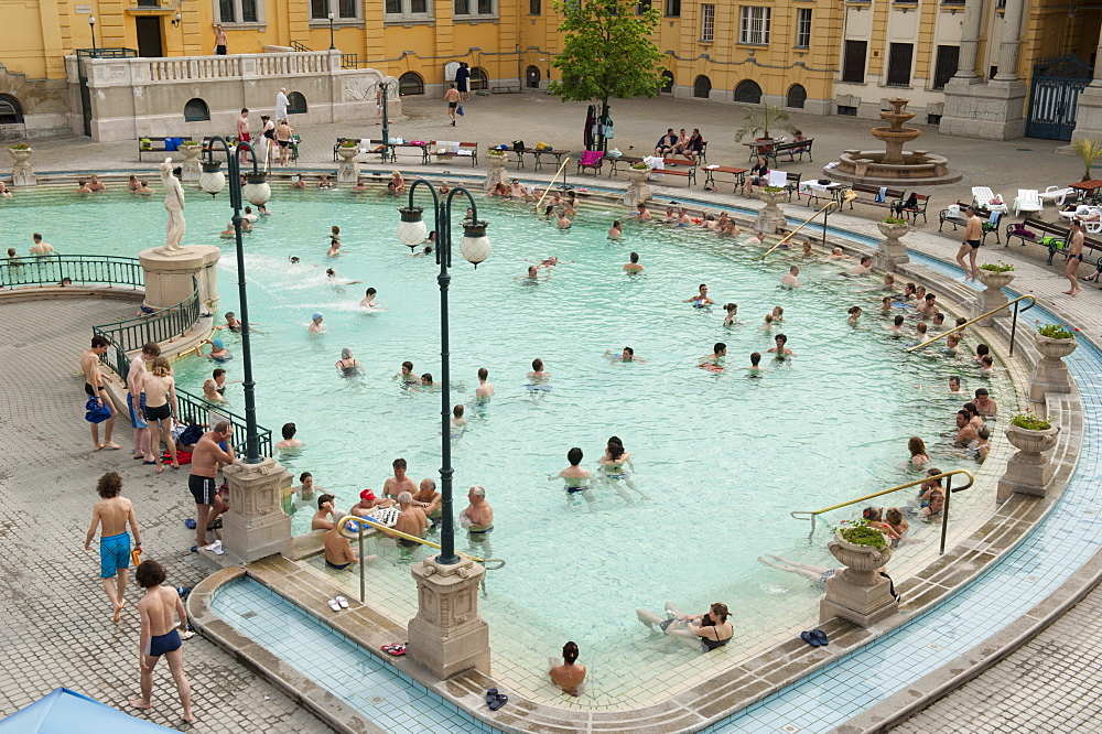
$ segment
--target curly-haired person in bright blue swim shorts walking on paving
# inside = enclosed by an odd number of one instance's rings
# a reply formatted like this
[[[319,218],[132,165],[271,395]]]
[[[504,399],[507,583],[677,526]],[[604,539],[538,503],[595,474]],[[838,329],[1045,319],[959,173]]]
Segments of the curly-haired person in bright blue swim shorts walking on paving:
[[[108,472],[99,477],[96,492],[100,500],[91,508],[91,527],[84,539],[84,549],[91,550],[91,539],[99,532],[99,578],[104,580],[104,591],[111,600],[115,616],[111,622],[118,624],[122,607],[126,605],[127,572],[130,568],[130,536],[127,523],[134,533],[134,547],[141,548],[141,532],[138,530],[138,518],[134,517],[133,505],[122,496],[122,477],[115,472]]]

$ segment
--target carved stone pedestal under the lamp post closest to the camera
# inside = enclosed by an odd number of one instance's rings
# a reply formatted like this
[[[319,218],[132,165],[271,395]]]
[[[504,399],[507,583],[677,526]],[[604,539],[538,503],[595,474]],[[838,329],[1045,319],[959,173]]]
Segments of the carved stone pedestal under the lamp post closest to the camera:
[[[407,651],[441,680],[474,668],[489,674],[489,625],[478,616],[478,584],[486,569],[468,558],[441,565],[435,555],[413,566],[418,613]]]

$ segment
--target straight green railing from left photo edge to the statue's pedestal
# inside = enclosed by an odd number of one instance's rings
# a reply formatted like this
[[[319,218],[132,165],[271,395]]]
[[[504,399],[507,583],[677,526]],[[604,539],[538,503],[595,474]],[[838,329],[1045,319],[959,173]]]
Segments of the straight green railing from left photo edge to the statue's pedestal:
[[[61,285],[68,278],[74,285],[105,283],[134,290],[144,287],[144,271],[137,258],[100,255],[42,255],[0,261],[0,288]]]

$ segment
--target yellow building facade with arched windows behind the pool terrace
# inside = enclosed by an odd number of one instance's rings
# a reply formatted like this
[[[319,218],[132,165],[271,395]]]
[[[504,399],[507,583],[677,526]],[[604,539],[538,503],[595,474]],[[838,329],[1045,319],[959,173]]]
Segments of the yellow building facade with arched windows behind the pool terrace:
[[[903,96],[919,114],[916,121],[959,119],[955,132],[980,137],[1022,134],[1033,118],[1057,108],[1065,118],[1057,120],[1060,134],[1070,136],[1074,115],[1069,128],[1067,110],[1074,100],[1041,104],[1048,93],[1029,88],[1035,67],[1079,60],[1073,72],[1084,78],[1082,88],[1093,78],[1102,26],[1102,9],[1077,0],[1059,7],[1038,0],[651,1],[662,13],[653,39],[667,57],[665,94],[861,117],[876,117],[887,98]],[[8,31],[0,41],[0,122],[11,118],[6,104],[18,102],[31,117],[61,105],[65,80],[73,82],[66,57],[76,50],[205,56],[215,51],[217,24],[231,55],[335,47],[346,68],[397,77],[402,95],[442,91],[457,62],[472,67],[475,89],[542,89],[557,78],[551,63],[562,45],[552,0],[0,0],[0,8]],[[976,119],[976,109],[958,104],[970,95],[986,100],[979,117],[991,118],[979,131],[963,123]],[[72,93],[67,97],[66,104]],[[995,118],[1011,121],[996,130]]]

